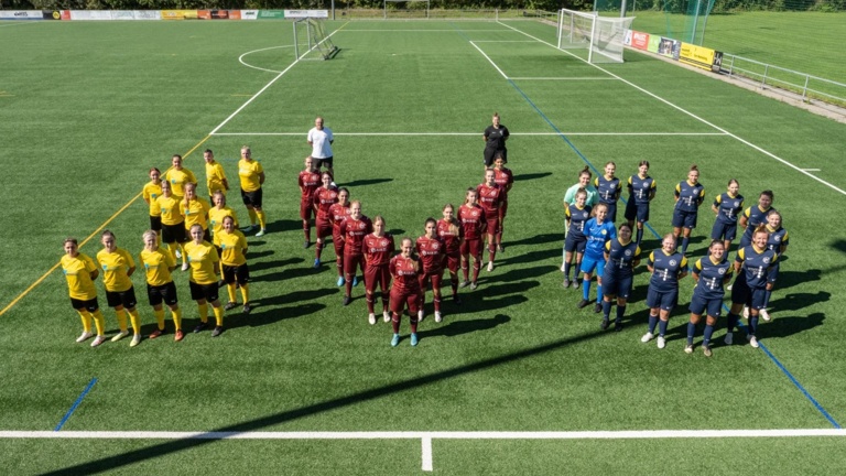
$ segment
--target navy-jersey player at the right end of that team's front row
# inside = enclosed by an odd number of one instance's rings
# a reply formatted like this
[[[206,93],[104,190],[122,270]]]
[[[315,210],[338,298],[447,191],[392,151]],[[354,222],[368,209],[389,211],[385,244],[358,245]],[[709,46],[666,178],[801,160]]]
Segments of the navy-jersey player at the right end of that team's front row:
[[[737,250],[735,259],[735,283],[731,288],[731,310],[728,312],[728,326],[726,328],[726,345],[734,340],[734,329],[740,318],[738,313],[744,305],[749,306],[749,326],[747,339],[749,345],[758,348],[758,316],[763,307],[766,291],[772,289],[773,282],[769,280],[770,269],[779,259],[776,251],[767,249],[769,234],[767,227],[761,225],[752,234],[752,245]]]

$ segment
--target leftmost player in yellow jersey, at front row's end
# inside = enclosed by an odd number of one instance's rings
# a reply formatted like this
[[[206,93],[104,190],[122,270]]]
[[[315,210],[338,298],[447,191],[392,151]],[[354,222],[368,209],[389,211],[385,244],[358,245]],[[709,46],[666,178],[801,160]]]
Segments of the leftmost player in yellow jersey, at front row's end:
[[[76,238],[67,238],[64,242],[65,256],[62,257],[62,272],[67,279],[67,289],[70,294],[70,305],[79,313],[83,320],[83,334],[76,339],[82,343],[91,337],[91,317],[97,326],[97,337],[91,342],[91,347],[106,342],[106,322],[97,303],[97,290],[94,280],[100,271],[97,264],[87,255],[79,252],[79,244]]]

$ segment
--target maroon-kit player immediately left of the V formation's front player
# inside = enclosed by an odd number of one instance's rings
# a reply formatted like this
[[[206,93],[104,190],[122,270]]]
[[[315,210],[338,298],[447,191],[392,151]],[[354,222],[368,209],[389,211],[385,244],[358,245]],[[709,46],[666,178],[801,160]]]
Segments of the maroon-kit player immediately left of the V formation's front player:
[[[373,217],[373,232],[365,237],[362,246],[365,252],[365,293],[367,294],[367,312],[370,313],[368,322],[376,324],[376,285],[379,284],[382,292],[382,318],[391,320],[388,312],[388,293],[391,285],[391,273],[388,272],[388,263],[394,253],[393,237],[384,232],[384,218],[381,215]]]

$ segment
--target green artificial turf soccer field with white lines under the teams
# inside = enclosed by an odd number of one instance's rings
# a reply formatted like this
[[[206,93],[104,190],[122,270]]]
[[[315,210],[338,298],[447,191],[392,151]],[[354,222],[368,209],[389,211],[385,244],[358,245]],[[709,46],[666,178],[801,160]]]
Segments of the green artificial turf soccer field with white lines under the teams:
[[[288,22],[0,23],[0,469],[8,474],[837,474],[846,461],[844,125],[651,56],[601,67],[533,21],[330,22],[341,51],[296,61]],[[297,173],[323,116],[336,181],[398,238],[482,181],[482,130],[512,132],[503,242],[463,304],[391,348],[361,285],[341,305],[333,266],[303,249]],[[204,182],[215,151],[237,180],[243,144],[265,173],[268,234],[248,237],[253,312],[226,332],[90,348],[56,263],[74,236],[94,256],[112,230],[133,256],[139,196],[174,153]],[[683,351],[693,281],[668,346],[642,344],[641,264],[622,332],[599,329],[561,286],[562,198],[585,165],[658,183],[643,253],[671,230],[690,165],[708,210],[729,178],[747,206],[772,190],[790,248],[761,322],[714,356]],[[596,172],[595,172],[596,173]],[[200,184],[200,196],[205,185]],[[627,194],[623,194],[627,196]],[[242,220],[237,193],[229,204]],[[620,210],[621,214],[622,210]],[[620,219],[618,219],[618,223]],[[314,237],[314,230],[312,231]],[[731,255],[734,257],[734,253]],[[332,248],[324,263],[332,263]],[[155,328],[133,277],[144,335]],[[176,272],[185,329],[197,323]],[[445,280],[448,281],[448,280]],[[109,335],[115,313],[105,309]],[[595,292],[595,291],[594,291]],[[444,285],[448,296],[448,285]],[[739,343],[744,340],[742,343]],[[742,344],[742,345],[740,345]]]

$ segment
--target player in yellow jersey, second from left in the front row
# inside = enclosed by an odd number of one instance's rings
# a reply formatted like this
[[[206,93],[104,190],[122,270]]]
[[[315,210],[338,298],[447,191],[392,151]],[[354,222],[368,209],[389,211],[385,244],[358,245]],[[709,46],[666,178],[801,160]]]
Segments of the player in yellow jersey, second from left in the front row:
[[[104,248],[97,253],[97,262],[102,268],[102,283],[106,285],[106,301],[118,315],[120,333],[111,338],[118,342],[129,335],[127,331],[127,313],[132,323],[132,342],[130,347],[141,344],[141,317],[135,305],[135,289],[132,286],[132,273],[135,272],[135,260],[123,248],[118,248],[115,234],[106,230],[100,236]]]

